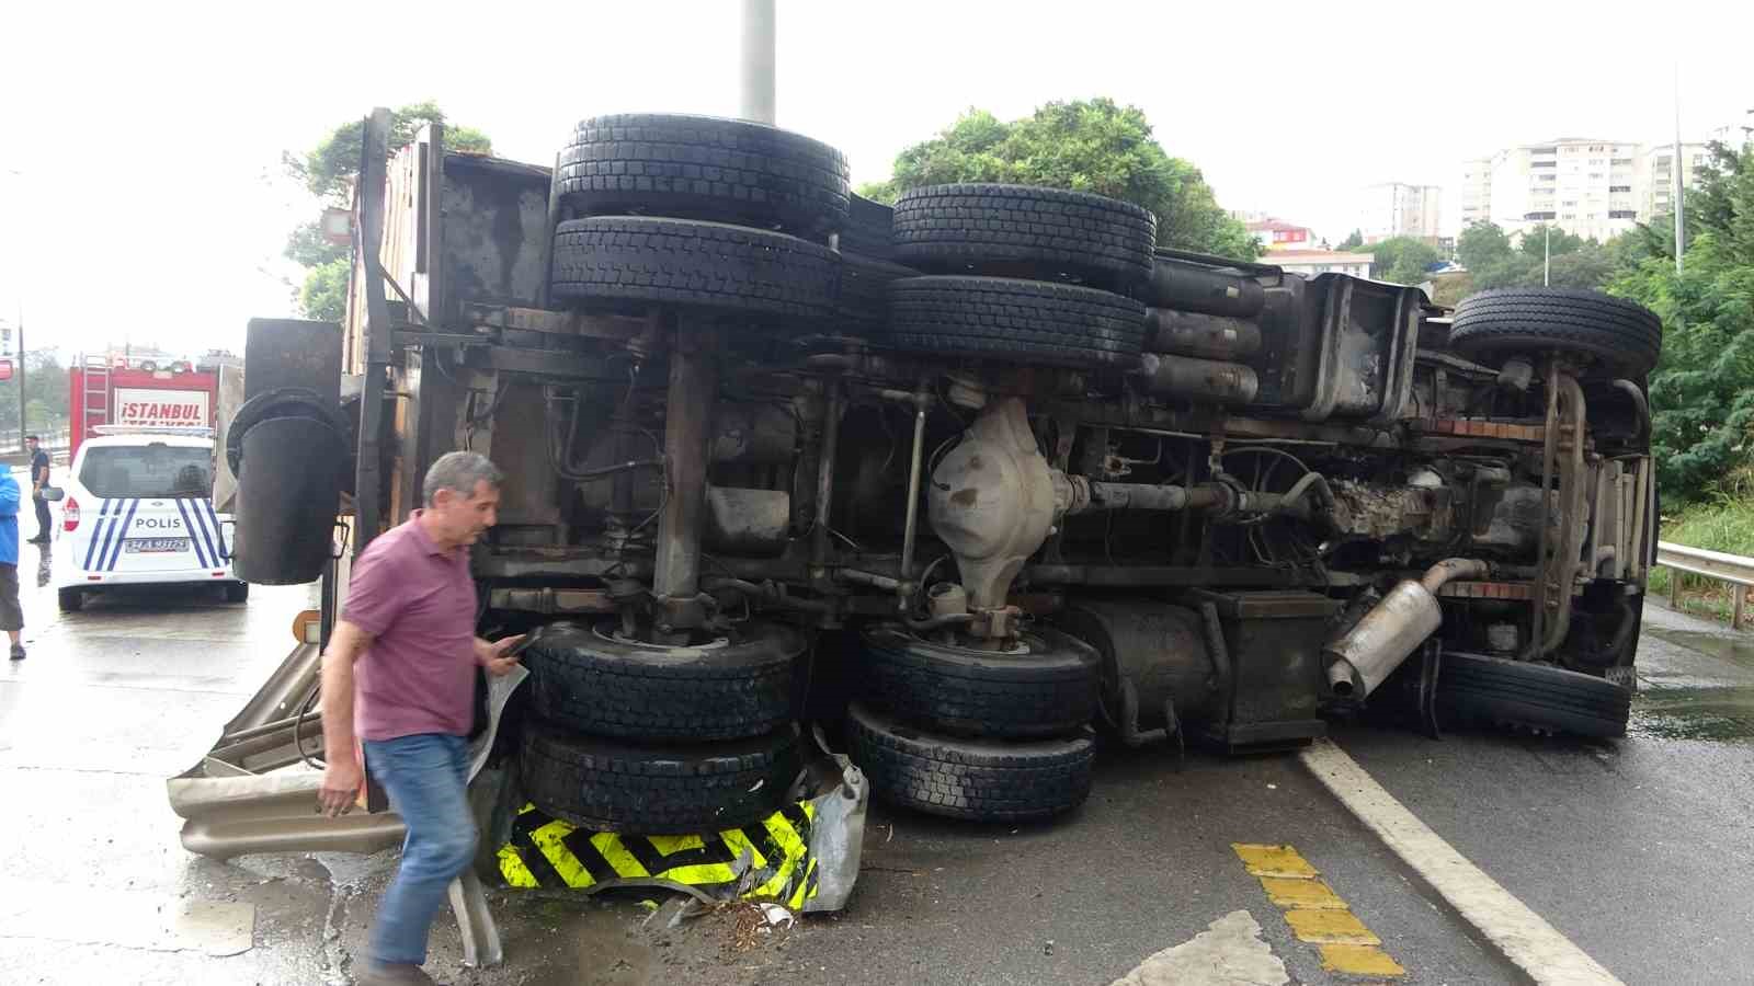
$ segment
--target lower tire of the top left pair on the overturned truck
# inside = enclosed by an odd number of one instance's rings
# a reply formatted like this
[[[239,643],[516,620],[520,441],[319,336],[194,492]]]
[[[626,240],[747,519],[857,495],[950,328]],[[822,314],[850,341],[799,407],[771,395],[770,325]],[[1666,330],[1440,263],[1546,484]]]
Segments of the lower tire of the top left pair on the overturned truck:
[[[777,319],[835,311],[840,258],[724,223],[598,216],[554,232],[554,298],[610,309],[689,305]]]

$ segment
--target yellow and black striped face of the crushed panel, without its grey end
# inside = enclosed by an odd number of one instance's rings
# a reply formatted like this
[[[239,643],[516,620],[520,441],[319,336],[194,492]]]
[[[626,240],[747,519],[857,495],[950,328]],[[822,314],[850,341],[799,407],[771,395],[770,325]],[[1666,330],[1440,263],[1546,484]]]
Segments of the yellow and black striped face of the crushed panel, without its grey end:
[[[709,897],[774,900],[802,909],[816,897],[810,825],[816,805],[798,802],[742,828],[707,835],[623,835],[589,832],[524,805],[512,839],[500,846],[507,886],[600,890],[617,884],[672,882]],[[747,879],[737,861],[749,860]]]

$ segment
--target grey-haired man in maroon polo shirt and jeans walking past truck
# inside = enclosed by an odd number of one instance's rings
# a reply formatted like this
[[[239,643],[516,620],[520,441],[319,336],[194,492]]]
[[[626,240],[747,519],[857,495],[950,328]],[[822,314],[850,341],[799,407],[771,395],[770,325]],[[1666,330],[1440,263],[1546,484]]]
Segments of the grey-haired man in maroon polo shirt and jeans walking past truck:
[[[317,795],[346,814],[365,768],[407,823],[402,865],[372,928],[361,986],[430,984],[426,933],[446,888],[475,856],[465,786],[475,714],[475,667],[502,675],[519,637],[475,637],[468,546],[493,526],[500,470],[477,453],[447,453],[426,470],[426,507],[377,537],[354,561],[347,605],[323,654],[323,744]]]

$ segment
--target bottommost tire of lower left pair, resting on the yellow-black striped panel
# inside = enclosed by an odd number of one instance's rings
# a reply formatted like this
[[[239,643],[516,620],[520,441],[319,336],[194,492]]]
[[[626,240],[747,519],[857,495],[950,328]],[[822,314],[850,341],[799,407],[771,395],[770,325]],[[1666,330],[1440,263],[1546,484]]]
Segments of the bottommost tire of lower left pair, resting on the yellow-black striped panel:
[[[798,726],[707,746],[649,746],[582,737],[526,721],[524,795],[554,818],[595,832],[686,835],[766,818],[803,770]]]

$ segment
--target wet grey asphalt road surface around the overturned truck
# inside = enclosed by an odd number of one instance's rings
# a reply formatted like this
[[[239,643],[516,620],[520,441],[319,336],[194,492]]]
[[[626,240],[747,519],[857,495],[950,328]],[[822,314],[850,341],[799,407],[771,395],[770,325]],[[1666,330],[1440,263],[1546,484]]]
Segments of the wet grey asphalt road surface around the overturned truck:
[[[291,646],[310,589],[139,593],[54,612],[30,588],[30,658],[0,668],[0,982],[351,981],[393,853],[214,863],[177,844],[163,779],[191,767]],[[1340,746],[1463,854],[1626,982],[1754,965],[1754,639],[1647,609],[1635,735],[1572,742],[1372,726]],[[949,825],[873,805],[851,907],[738,947],[737,912],[644,926],[640,898],[495,891],[509,961],[451,982],[1110,982],[1247,911],[1293,982],[1340,982],[1231,842],[1294,846],[1407,967],[1405,982],[1519,982],[1496,951],[1294,756],[1112,751],[1045,826]],[[244,951],[160,951],[142,916],[249,914]],[[251,907],[235,907],[251,905]],[[35,918],[32,918],[35,914]],[[47,919],[46,916],[60,916]]]

